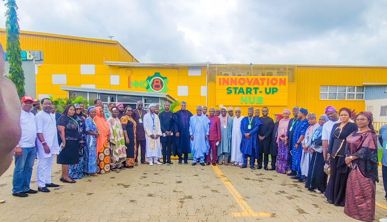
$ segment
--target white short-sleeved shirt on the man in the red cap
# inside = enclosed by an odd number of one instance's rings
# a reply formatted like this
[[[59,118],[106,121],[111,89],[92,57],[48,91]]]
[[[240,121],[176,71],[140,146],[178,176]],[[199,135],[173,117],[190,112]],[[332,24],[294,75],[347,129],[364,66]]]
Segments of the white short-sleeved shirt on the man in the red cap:
[[[36,121],[32,112],[21,111],[20,127],[22,136],[20,137],[19,146],[22,148],[35,147],[36,140]]]

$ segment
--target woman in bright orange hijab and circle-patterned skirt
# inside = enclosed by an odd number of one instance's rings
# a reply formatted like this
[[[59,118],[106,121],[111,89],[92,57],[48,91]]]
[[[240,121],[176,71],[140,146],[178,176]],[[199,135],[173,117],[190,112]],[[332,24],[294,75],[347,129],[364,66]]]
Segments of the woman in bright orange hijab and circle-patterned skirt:
[[[109,128],[104,118],[103,108],[96,107],[97,115],[94,122],[97,126],[99,136],[97,137],[97,173],[104,174],[110,171],[110,151],[108,145]]]

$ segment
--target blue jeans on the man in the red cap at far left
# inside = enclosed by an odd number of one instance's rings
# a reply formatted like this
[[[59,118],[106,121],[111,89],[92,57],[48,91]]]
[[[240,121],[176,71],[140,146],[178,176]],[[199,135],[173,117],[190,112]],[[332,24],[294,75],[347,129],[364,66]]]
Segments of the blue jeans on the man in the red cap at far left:
[[[12,179],[12,193],[26,192],[31,181],[32,168],[35,163],[36,148],[22,148],[22,155],[15,156],[14,178]]]

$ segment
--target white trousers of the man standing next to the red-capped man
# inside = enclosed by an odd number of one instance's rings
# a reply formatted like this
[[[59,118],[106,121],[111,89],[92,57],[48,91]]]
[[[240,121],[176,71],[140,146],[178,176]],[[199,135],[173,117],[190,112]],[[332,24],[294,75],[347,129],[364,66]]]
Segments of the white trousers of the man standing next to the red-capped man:
[[[36,164],[36,183],[38,187],[46,187],[46,183],[51,183],[51,169],[54,163],[54,154],[48,158],[38,158]]]

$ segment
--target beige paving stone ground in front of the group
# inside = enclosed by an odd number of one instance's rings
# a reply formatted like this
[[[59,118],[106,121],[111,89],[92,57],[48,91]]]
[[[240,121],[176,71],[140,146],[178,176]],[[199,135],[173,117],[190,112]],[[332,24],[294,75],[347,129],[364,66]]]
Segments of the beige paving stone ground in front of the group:
[[[0,199],[7,200],[0,204],[0,221],[358,221],[346,216],[343,207],[327,203],[323,194],[311,193],[275,171],[221,165],[222,180],[212,166],[173,162],[139,164],[134,169],[86,176],[75,184],[60,182],[60,165],[54,163],[53,182],[61,186],[27,198],[12,196],[11,166],[0,178]],[[381,173],[379,180],[376,200],[386,209],[376,207],[377,219],[387,213]],[[223,181],[229,181],[234,190]],[[31,188],[37,189],[35,169]],[[242,207],[271,217],[233,217],[231,213],[243,210],[231,192],[240,194],[240,201],[247,205]]]

